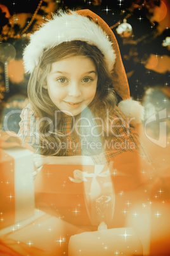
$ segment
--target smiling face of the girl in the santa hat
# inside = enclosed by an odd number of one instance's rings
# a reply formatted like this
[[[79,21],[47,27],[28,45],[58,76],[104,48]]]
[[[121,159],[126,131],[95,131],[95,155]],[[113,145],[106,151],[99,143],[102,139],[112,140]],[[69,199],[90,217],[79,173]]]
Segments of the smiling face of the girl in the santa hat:
[[[73,56],[51,65],[45,88],[58,109],[75,116],[93,101],[97,82],[98,75],[93,60]]]

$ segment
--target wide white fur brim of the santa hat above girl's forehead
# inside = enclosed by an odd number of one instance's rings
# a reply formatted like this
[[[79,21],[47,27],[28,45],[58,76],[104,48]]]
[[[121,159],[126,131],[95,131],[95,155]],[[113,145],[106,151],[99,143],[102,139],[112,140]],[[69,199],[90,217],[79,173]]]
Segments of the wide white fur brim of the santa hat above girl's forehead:
[[[101,27],[75,11],[70,11],[69,14],[59,11],[51,20],[42,24],[39,30],[30,35],[30,43],[23,51],[25,71],[32,73],[44,50],[72,40],[86,41],[90,45],[97,46],[105,57],[108,70],[113,69],[115,53],[112,42]]]

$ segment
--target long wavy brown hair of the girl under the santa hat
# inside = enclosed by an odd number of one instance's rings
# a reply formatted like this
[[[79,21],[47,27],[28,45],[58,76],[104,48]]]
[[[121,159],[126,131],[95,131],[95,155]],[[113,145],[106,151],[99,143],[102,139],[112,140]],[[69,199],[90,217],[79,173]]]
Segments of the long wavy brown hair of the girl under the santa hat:
[[[42,145],[44,134],[48,134],[46,139],[49,143],[58,143],[57,150],[50,150],[50,148],[46,147],[42,148],[42,155],[55,155],[60,151],[61,144],[61,132],[55,131],[54,133],[49,133],[49,127],[54,122],[55,111],[58,109],[51,101],[48,91],[44,89],[44,85],[47,83],[47,75],[53,62],[76,55],[89,57],[93,60],[96,66],[98,74],[96,95],[92,103],[88,106],[94,117],[100,116],[103,118],[103,121],[105,121],[105,110],[108,108],[113,109],[117,103],[117,97],[115,96],[112,86],[111,74],[107,70],[103,54],[95,45],[89,45],[89,43],[86,43],[85,41],[75,40],[61,43],[58,46],[46,50],[41,60],[39,60],[39,64],[34,68],[28,85],[29,101],[36,112],[37,117],[41,120],[46,117],[49,120],[49,122],[42,120],[39,124],[40,146]],[[62,113],[60,113],[58,117],[58,122],[60,122],[61,118]]]

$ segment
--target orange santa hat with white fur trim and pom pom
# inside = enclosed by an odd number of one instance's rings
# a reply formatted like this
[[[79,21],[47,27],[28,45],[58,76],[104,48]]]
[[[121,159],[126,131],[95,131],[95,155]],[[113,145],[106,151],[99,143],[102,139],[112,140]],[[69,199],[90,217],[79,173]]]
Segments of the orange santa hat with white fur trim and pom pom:
[[[25,71],[32,73],[44,50],[72,40],[86,41],[100,49],[108,70],[112,71],[114,90],[122,98],[119,108],[126,117],[134,118],[135,123],[140,123],[143,107],[130,97],[128,79],[114,32],[93,11],[59,11],[42,24],[39,30],[30,35],[30,43],[23,52]]]

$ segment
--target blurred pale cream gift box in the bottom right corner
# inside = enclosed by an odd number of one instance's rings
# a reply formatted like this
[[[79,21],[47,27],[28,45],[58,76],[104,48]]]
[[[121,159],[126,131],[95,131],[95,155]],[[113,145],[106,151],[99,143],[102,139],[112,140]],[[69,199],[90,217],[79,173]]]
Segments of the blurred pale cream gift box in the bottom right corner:
[[[170,204],[150,201],[133,204],[126,225],[133,227],[143,245],[143,255],[170,255]],[[143,207],[145,205],[145,207]]]

